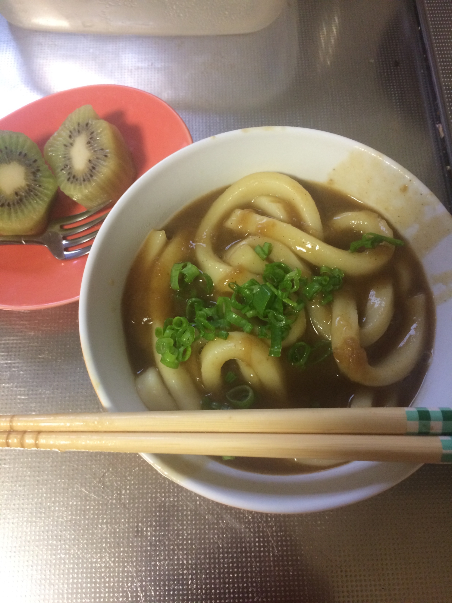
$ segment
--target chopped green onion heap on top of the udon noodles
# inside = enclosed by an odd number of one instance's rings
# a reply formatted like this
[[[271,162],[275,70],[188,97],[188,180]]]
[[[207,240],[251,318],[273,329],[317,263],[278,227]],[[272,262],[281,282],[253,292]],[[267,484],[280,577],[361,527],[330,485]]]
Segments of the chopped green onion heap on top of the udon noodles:
[[[271,244],[263,244],[262,250],[271,253]],[[181,286],[189,285],[198,277],[204,279],[205,291],[210,294],[213,283],[208,274],[201,273],[191,262],[174,264],[170,282],[175,295],[179,295]],[[344,273],[339,268],[322,266],[319,275],[308,281],[299,268],[292,270],[283,262],[271,262],[265,266],[263,283],[256,279],[250,279],[243,285],[229,283],[231,297],[222,295],[216,302],[189,297],[184,317],[167,318],[163,328],[155,329],[156,350],[162,356],[163,364],[177,368],[180,362],[190,358],[193,341],[201,338],[212,341],[216,337],[227,339],[231,330],[240,329],[270,339],[269,356],[278,357],[283,341],[306,300],[322,295],[321,303],[329,303],[333,300],[333,291],[341,288],[343,277]],[[196,295],[196,291],[191,291],[192,288],[185,289],[185,295],[187,292]],[[298,360],[295,364],[298,365]]]

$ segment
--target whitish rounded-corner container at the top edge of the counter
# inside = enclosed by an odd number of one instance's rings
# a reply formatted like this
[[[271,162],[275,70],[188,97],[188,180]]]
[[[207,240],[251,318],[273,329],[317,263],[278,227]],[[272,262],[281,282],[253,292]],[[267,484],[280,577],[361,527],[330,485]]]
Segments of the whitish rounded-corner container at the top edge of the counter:
[[[258,31],[285,0],[3,0],[1,13],[32,30],[149,36],[213,36]]]

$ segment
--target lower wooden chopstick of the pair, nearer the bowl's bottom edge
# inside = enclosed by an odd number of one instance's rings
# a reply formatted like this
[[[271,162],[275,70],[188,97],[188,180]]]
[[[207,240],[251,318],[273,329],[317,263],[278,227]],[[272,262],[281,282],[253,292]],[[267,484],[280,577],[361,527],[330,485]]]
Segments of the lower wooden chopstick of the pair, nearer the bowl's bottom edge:
[[[0,448],[452,463],[450,436],[1,432]]]

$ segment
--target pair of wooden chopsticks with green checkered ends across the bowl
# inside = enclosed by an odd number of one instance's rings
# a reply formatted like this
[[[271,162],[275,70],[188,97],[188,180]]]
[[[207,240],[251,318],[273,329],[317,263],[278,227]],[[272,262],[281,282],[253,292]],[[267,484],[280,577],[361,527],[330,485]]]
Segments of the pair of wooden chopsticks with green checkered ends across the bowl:
[[[452,463],[451,408],[0,415],[0,448]]]

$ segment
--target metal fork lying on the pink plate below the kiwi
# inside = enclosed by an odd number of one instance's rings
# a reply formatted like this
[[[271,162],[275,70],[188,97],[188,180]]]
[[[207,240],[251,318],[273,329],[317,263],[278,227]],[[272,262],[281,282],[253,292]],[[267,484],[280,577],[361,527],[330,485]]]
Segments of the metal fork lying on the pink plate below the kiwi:
[[[77,223],[95,215],[95,213],[101,212],[110,204],[111,201],[108,201],[86,212],[52,220],[41,235],[0,236],[0,245],[45,245],[58,260],[72,260],[76,257],[84,256],[91,249],[92,241],[99,232],[101,224],[111,208],[89,222],[85,222],[84,224]],[[71,226],[71,224],[75,224],[75,226]],[[94,226],[99,227],[96,230],[91,230],[91,232],[86,232]],[[74,237],[74,235],[80,236]],[[90,242],[90,244],[78,249],[72,249],[72,247],[78,247],[78,245],[83,245],[86,242]]]

